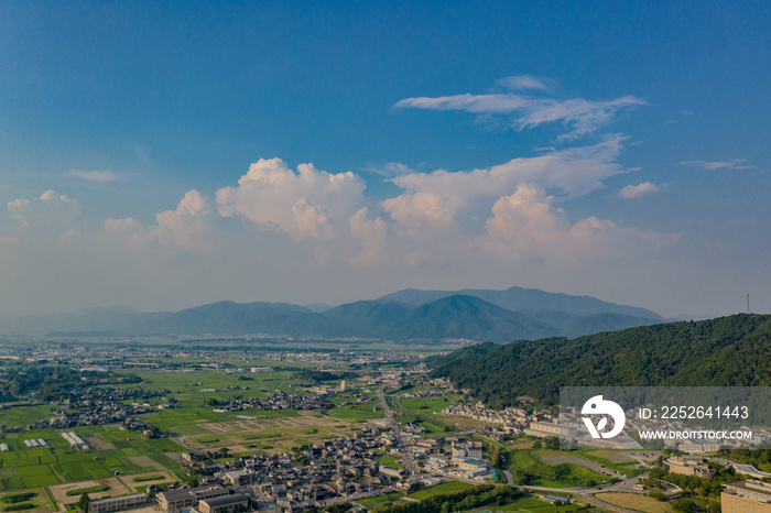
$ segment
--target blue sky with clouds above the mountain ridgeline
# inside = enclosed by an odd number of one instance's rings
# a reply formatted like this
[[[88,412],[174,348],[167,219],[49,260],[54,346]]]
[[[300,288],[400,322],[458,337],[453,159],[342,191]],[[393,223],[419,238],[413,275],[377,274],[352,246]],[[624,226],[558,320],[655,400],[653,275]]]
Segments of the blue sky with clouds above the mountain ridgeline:
[[[771,310],[767,3],[319,3],[3,2],[0,315]]]

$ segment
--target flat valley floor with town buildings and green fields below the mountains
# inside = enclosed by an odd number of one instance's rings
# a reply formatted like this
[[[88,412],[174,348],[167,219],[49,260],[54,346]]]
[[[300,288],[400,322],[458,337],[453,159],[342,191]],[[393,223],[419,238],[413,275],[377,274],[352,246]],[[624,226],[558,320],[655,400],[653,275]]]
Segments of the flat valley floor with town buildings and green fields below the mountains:
[[[688,479],[698,479],[717,483],[704,496],[723,511],[771,503],[771,473],[742,461],[746,444],[591,440],[575,415],[529,396],[486,407],[432,375],[427,352],[154,343],[3,348],[0,502],[40,512],[398,511],[506,490],[496,504],[508,511],[670,511],[693,502]]]

